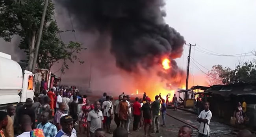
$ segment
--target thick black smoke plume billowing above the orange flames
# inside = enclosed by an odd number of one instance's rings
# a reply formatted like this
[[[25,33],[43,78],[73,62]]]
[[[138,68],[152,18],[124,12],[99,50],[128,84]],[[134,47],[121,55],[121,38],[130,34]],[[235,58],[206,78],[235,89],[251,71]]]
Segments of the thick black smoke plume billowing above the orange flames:
[[[110,52],[128,72],[149,68],[154,59],[182,55],[184,37],[164,22],[163,0],[57,0],[84,31],[111,35]],[[102,45],[104,46],[104,45]]]

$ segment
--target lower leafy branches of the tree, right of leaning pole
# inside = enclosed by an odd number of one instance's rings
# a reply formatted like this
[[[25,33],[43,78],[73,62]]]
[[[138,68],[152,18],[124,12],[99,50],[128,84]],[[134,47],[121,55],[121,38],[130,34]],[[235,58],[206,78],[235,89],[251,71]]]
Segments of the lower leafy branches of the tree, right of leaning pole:
[[[81,61],[76,54],[80,53],[84,48],[78,42],[70,41],[69,44],[63,43],[57,35],[63,31],[59,31],[56,22],[50,22],[43,29],[42,40],[39,48],[39,56],[37,58],[37,68],[51,69],[51,67],[59,60],[63,60],[63,65],[60,68],[64,73],[65,69],[69,68],[67,61],[74,63],[74,60]],[[29,49],[26,43],[20,43],[20,49],[23,49],[29,54]]]

